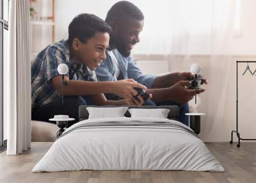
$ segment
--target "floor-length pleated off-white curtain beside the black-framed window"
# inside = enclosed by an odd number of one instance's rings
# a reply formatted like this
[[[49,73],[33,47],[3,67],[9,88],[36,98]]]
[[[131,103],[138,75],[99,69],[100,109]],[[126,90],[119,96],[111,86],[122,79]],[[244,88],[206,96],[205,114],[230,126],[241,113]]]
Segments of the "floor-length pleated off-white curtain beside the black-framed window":
[[[8,155],[21,154],[31,143],[30,31],[27,0],[10,1],[8,61],[4,63],[4,120]]]

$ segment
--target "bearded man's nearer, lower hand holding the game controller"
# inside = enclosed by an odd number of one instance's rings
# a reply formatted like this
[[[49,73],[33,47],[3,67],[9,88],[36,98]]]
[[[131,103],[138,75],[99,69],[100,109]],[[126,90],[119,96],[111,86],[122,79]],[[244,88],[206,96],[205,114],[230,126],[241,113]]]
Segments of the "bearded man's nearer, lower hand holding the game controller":
[[[189,100],[193,99],[195,96],[195,92],[197,94],[202,93],[205,89],[198,90],[189,90],[190,82],[189,81],[179,81],[178,83],[171,86],[169,89],[169,99],[174,100],[180,104],[184,104]]]

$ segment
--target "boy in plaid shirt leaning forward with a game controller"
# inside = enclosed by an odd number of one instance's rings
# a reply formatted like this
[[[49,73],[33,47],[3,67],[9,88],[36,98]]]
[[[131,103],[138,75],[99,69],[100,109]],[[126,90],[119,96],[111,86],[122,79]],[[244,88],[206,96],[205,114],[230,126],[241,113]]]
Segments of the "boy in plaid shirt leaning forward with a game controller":
[[[88,96],[98,106],[137,105],[134,87],[146,89],[133,79],[116,82],[97,82],[95,68],[106,58],[110,28],[104,20],[92,14],[75,17],[68,26],[68,40],[47,46],[31,62],[32,119],[47,122],[54,115],[69,115],[78,122],[78,107],[86,105]],[[58,65],[65,63],[69,72],[64,76],[64,106],[61,103],[61,76]],[[95,82],[93,82],[95,81]],[[115,93],[125,98],[107,100],[103,93]],[[151,97],[151,96],[150,96]]]

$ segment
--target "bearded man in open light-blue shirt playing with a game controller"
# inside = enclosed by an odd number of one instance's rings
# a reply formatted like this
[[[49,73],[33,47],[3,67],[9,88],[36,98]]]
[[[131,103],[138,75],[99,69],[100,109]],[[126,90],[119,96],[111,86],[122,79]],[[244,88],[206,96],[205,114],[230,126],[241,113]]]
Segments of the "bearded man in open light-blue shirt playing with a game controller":
[[[195,90],[188,90],[193,77],[190,72],[176,72],[164,76],[144,75],[131,58],[131,50],[140,42],[139,34],[143,29],[143,13],[134,4],[120,1],[114,4],[108,12],[106,22],[111,26],[109,51],[106,60],[95,71],[100,81],[117,81],[132,78],[147,86],[152,100],[159,105],[178,105],[180,107],[180,122],[188,125],[185,113],[189,112],[188,102],[193,99]],[[204,92],[203,89],[198,93]],[[118,99],[113,95],[108,99]],[[151,105],[154,105],[151,102]]]

